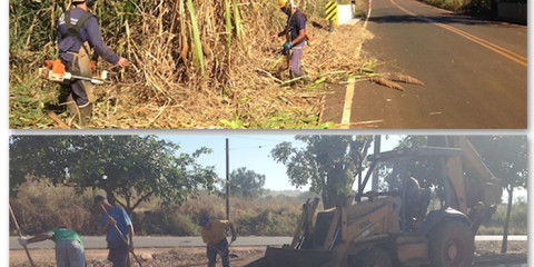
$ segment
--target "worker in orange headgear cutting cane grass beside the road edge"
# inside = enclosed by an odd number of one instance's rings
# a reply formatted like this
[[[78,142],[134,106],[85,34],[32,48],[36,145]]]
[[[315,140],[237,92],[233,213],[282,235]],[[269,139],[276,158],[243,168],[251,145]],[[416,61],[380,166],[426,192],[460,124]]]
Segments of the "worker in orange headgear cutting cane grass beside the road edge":
[[[288,41],[284,44],[285,52],[290,53],[289,75],[297,78],[304,75],[301,60],[304,46],[306,43],[306,16],[297,9],[293,0],[278,0],[278,8],[287,14],[286,28],[274,38],[283,36],[288,37]]]

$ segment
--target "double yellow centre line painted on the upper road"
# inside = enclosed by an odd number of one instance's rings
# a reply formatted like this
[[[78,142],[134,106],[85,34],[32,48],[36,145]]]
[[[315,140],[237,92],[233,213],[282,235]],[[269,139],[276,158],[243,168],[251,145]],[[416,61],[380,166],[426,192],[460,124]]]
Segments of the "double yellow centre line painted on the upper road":
[[[526,59],[525,57],[518,55],[518,53],[512,52],[512,51],[510,51],[510,50],[507,50],[507,49],[505,49],[505,48],[502,48],[502,47],[500,47],[500,46],[491,42],[491,41],[487,41],[487,40],[485,40],[485,39],[482,39],[482,38],[478,38],[478,37],[476,37],[476,36],[473,36],[473,34],[471,34],[471,33],[467,33],[467,32],[465,32],[465,31],[463,31],[463,30],[459,30],[459,29],[457,29],[457,28],[455,28],[455,27],[447,26],[447,24],[439,23],[439,22],[436,22],[436,21],[431,20],[431,19],[427,19],[427,18],[419,17],[419,16],[415,14],[414,12],[412,12],[412,11],[409,11],[409,10],[400,7],[397,2],[395,2],[395,0],[389,0],[389,1],[390,1],[395,7],[397,7],[398,9],[400,9],[403,12],[405,12],[405,13],[407,13],[407,14],[414,16],[414,17],[421,19],[421,20],[431,22],[431,23],[433,23],[433,24],[435,24],[435,26],[437,26],[437,27],[439,27],[439,28],[442,28],[442,29],[445,29],[445,30],[448,30],[448,31],[451,31],[451,32],[454,32],[454,33],[456,33],[456,34],[458,34],[458,36],[461,36],[461,37],[469,40],[469,41],[473,41],[473,42],[475,42],[475,43],[478,43],[478,44],[481,44],[481,46],[483,46],[483,47],[485,47],[485,48],[487,48],[487,49],[490,49],[490,50],[492,50],[492,51],[494,51],[494,52],[496,52],[496,53],[498,53],[498,55],[501,55],[501,56],[503,56],[503,57],[505,57],[505,58],[507,58],[507,59],[510,59],[510,60],[512,60],[512,61],[514,61],[514,62],[516,62],[516,63],[518,63],[518,65],[522,65],[522,66],[524,66],[524,67],[527,67],[527,59]]]

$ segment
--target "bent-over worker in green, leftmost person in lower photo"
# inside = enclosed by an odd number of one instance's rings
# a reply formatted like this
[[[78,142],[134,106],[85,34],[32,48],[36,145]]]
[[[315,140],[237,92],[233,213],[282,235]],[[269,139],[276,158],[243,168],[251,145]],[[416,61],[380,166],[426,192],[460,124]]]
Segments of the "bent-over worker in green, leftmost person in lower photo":
[[[78,233],[67,227],[53,228],[47,233],[33,237],[19,238],[20,246],[24,247],[30,243],[44,240],[56,243],[56,265],[58,267],[85,267],[83,244]]]

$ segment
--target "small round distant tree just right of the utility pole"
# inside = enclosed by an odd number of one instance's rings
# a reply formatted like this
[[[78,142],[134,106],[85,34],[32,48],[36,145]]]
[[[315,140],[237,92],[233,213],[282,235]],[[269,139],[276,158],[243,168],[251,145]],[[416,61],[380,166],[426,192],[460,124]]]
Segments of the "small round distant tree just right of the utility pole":
[[[230,174],[230,192],[243,197],[257,197],[263,194],[265,175],[243,167]]]

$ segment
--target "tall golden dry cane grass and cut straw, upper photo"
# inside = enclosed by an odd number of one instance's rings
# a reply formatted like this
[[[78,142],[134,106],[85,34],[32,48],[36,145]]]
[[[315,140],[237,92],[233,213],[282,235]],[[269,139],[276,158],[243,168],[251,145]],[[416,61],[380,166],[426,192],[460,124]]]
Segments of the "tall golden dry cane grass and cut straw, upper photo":
[[[339,40],[312,27],[312,21],[326,26],[318,17],[324,0],[297,2],[319,41],[330,46]],[[313,79],[324,79],[293,89],[283,83],[287,77],[270,68],[283,44],[270,36],[286,20],[276,4],[271,0],[99,1],[95,13],[105,41],[131,61],[126,70],[100,61],[100,69],[111,69],[113,81],[134,86],[99,87],[90,127],[326,127],[318,122],[320,98],[327,92],[323,82],[348,60],[338,60],[339,55],[327,58],[334,52],[332,46],[325,46],[326,51],[308,48],[305,66]],[[44,59],[57,57],[56,21],[68,7],[68,0],[10,1],[12,128],[56,127],[41,109],[57,108],[57,86],[46,83],[40,90],[36,70]],[[357,46],[362,40],[354,41]],[[360,65],[350,62],[348,73],[358,72]]]

